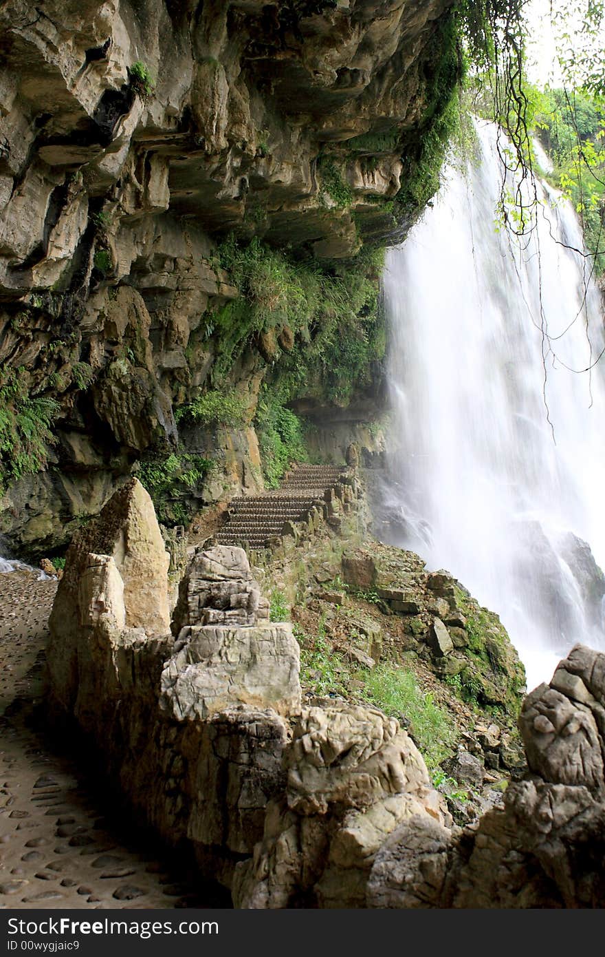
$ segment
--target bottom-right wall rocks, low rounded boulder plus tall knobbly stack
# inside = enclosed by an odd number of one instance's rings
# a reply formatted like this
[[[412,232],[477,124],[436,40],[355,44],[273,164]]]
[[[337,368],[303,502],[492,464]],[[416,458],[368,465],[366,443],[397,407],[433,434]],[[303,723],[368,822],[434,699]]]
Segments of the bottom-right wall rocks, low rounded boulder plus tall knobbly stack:
[[[605,656],[576,645],[520,717],[529,765],[456,838],[426,821],[380,849],[368,906],[602,907]]]

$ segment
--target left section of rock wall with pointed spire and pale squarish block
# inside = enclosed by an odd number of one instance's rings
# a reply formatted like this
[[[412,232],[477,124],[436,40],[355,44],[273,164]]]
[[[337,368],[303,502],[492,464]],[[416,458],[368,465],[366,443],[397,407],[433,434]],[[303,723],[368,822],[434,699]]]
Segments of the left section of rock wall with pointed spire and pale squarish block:
[[[114,554],[85,551],[116,542]],[[278,712],[300,710],[298,645],[289,625],[270,625],[262,614],[247,627],[187,624],[175,640],[150,602],[147,627],[129,626],[140,610],[128,587],[134,554],[163,576],[156,588],[165,602],[167,559],[138,483],[117,493],[68,551],[51,616],[54,706],[76,719],[164,839],[190,840],[201,861],[211,857],[208,870],[227,880],[262,836],[265,805],[282,785],[289,728]],[[216,590],[219,569],[251,581],[239,549],[194,556],[186,582],[200,568],[213,569]]]

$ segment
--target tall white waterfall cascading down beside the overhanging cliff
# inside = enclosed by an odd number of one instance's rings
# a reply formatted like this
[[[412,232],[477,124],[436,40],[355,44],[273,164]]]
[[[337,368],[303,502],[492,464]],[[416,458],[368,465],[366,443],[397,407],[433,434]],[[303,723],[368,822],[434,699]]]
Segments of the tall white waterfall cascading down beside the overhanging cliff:
[[[605,649],[605,356],[566,368],[603,348],[600,296],[566,248],[582,249],[573,209],[546,185],[524,249],[497,232],[495,128],[477,131],[480,162],[446,170],[387,258],[387,504],[396,544],[500,614],[531,688],[576,641]]]

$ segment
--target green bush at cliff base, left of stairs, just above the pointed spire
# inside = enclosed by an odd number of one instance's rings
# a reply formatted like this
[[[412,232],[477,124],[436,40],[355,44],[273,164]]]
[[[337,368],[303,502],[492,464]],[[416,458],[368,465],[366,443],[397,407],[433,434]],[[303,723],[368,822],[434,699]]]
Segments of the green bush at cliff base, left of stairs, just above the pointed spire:
[[[214,468],[204,456],[172,452],[140,460],[137,478],[151,496],[160,521],[166,525],[186,524],[192,517],[183,501],[184,493],[203,482]]]

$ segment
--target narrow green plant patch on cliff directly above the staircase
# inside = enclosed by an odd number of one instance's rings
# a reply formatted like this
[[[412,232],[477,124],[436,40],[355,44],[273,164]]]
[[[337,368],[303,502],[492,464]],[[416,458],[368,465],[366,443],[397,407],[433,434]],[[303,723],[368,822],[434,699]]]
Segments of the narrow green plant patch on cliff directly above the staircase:
[[[306,462],[302,423],[290,409],[280,405],[268,389],[263,389],[254,419],[263,463],[263,474],[269,488],[276,488],[292,461]]]

